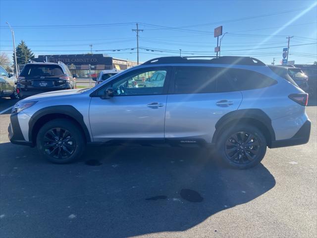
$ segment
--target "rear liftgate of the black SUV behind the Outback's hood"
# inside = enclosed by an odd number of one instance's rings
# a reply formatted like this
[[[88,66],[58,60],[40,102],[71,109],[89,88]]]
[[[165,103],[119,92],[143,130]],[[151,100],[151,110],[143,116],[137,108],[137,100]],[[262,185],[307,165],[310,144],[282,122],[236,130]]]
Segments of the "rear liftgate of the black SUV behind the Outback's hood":
[[[26,64],[20,77],[28,89],[48,90],[65,84],[67,75],[57,64]]]

